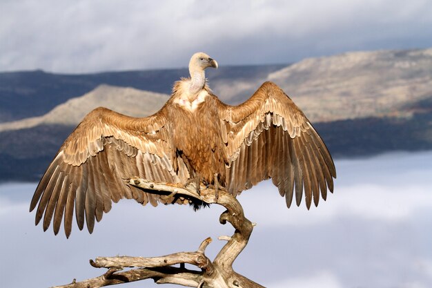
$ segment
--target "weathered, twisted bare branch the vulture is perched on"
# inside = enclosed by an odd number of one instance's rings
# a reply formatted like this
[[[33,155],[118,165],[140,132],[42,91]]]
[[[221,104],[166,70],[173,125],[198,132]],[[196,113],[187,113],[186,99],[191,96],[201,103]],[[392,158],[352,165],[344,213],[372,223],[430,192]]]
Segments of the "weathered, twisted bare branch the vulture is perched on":
[[[97,268],[108,268],[103,275],[76,282],[75,279],[68,285],[53,288],[87,288],[104,287],[126,282],[144,279],[153,279],[157,284],[177,284],[185,287],[198,288],[263,288],[248,278],[245,278],[233,270],[235,258],[242,252],[253,230],[253,223],[244,217],[242,206],[230,193],[219,190],[217,199],[215,191],[205,186],[201,187],[197,194],[194,187],[179,186],[175,184],[156,183],[140,178],[127,180],[128,184],[137,186],[150,193],[163,193],[164,197],[181,196],[186,199],[196,198],[208,204],[219,204],[226,208],[219,218],[219,222],[230,222],[235,228],[233,236],[222,236],[221,240],[227,240],[215,259],[211,261],[205,255],[205,249],[211,242],[207,238],[202,242],[197,251],[173,253],[167,256],[142,258],[142,257],[98,257],[90,260],[90,265]],[[166,195],[168,194],[168,195]],[[201,271],[186,269],[188,263],[201,269]],[[179,267],[173,267],[179,265]],[[129,269],[134,267],[134,269]],[[124,270],[127,268],[128,270]]]

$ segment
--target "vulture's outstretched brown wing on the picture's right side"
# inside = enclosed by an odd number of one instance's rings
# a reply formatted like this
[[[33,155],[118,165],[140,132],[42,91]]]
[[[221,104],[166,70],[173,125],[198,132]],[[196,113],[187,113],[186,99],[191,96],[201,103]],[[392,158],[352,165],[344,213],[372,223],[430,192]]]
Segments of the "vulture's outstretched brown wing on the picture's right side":
[[[230,165],[228,190],[238,194],[269,177],[291,206],[302,194],[306,207],[333,192],[335,165],[306,116],[277,85],[266,82],[239,106],[219,103]]]

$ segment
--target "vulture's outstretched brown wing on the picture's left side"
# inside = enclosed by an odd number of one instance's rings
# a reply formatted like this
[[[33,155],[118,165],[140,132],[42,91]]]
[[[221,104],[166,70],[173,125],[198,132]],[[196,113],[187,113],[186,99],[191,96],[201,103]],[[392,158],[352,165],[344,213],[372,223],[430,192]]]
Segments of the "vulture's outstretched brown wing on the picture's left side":
[[[111,209],[112,202],[133,198],[142,204],[181,202],[163,200],[125,184],[128,177],[159,182],[184,182],[188,171],[177,162],[170,142],[165,111],[146,118],[134,118],[97,108],[90,112],[63,143],[48,166],[33,195],[30,211],[37,207],[36,224],[43,217],[43,229],[53,218],[59,232],[62,218],[66,237],[75,215],[79,229],[92,233],[95,219]],[[39,202],[39,205],[37,206]],[[85,216],[84,216],[85,215]]]

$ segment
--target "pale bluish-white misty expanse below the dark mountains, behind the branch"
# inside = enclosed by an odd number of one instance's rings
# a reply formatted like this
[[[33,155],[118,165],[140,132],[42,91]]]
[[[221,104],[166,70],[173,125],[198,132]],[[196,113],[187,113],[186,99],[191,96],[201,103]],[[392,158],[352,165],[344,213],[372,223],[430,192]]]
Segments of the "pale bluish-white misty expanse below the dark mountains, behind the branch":
[[[432,287],[432,152],[392,153],[335,162],[335,193],[317,208],[286,209],[271,182],[239,196],[257,222],[235,270],[269,288]],[[195,251],[207,238],[213,259],[231,235],[222,207],[141,207],[120,201],[95,231],[72,228],[69,239],[34,226],[28,206],[36,184],[0,184],[2,287],[50,287],[104,273],[96,256],[161,256]],[[262,263],[265,263],[263,265]],[[152,280],[124,286],[155,285]]]

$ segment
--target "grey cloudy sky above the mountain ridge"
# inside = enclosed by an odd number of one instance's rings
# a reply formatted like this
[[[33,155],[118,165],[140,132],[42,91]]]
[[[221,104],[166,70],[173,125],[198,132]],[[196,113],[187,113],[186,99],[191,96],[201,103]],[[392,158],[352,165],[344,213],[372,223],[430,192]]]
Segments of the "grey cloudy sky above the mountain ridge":
[[[290,63],[432,46],[429,0],[0,0],[0,71]]]

